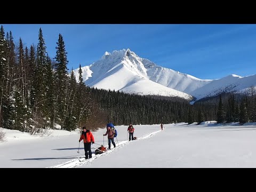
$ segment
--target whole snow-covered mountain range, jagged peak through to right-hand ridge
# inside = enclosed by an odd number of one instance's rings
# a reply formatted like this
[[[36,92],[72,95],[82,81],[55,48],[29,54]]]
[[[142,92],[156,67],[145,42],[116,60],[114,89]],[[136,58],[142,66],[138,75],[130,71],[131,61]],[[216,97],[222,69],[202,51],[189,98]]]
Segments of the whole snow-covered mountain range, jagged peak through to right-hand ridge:
[[[74,73],[78,81],[78,70]],[[256,75],[240,77],[229,75],[221,79],[199,79],[172,69],[157,66],[138,57],[129,49],[105,52],[100,60],[82,67],[86,85],[101,89],[119,90],[137,94],[155,94],[202,99],[223,91],[241,92],[256,86]]]

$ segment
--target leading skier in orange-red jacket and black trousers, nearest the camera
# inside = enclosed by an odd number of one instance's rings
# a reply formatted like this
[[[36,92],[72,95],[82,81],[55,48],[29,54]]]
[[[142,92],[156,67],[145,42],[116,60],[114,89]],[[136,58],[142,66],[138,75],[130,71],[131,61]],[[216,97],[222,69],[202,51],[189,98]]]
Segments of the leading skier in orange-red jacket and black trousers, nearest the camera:
[[[88,154],[89,158],[92,158],[91,143],[94,143],[94,137],[92,135],[92,132],[90,132],[90,130],[87,130],[85,126],[83,126],[83,131],[79,142],[82,140],[84,140],[85,159],[88,158]]]

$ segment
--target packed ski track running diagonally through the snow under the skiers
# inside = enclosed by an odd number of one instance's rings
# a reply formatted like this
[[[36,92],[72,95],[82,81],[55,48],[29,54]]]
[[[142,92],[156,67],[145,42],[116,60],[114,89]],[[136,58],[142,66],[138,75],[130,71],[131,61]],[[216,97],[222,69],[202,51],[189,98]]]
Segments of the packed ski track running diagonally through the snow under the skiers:
[[[148,138],[152,137],[154,134],[156,134],[158,132],[161,132],[161,131],[162,130],[155,131],[153,133],[149,133],[149,134],[145,135],[144,137],[138,138],[137,140],[148,139]],[[101,156],[104,156],[104,155],[109,155],[113,151],[118,150],[120,147],[123,147],[123,146],[125,146],[129,143],[130,143],[129,141],[122,141],[122,142],[119,142],[119,145],[116,148],[111,148],[110,150],[107,150],[105,153],[98,154],[98,155],[92,154],[92,158],[85,159],[84,155],[81,155],[81,156],[77,156],[76,159],[72,159],[71,161],[68,161],[66,163],[59,164],[59,165],[54,165],[54,166],[50,166],[50,167],[46,167],[46,168],[75,168],[75,167],[81,166],[83,164],[91,164],[91,162],[94,161],[95,159],[98,159],[98,158],[100,158]],[[111,146],[111,147],[113,147],[113,146]],[[83,161],[79,161],[83,158],[84,158]]]

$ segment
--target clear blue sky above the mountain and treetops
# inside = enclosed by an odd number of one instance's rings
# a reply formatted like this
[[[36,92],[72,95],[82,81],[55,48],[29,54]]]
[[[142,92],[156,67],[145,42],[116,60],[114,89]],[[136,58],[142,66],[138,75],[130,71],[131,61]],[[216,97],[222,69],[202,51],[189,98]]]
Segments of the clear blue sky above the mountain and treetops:
[[[129,48],[158,66],[202,79],[256,74],[256,25],[3,24],[14,40],[37,45],[42,28],[46,50],[55,57],[58,35],[68,52],[68,68],[90,65],[106,51]]]

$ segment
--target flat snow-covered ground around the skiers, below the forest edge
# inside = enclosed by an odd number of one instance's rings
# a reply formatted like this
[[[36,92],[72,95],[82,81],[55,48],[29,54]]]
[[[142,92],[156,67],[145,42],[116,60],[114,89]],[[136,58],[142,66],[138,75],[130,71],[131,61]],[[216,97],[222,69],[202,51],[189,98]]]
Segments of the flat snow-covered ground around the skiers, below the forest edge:
[[[163,131],[160,125],[134,125],[134,141],[127,141],[126,125],[116,126],[117,147],[95,155],[94,147],[107,146],[106,129],[100,129],[93,132],[93,157],[82,162],[78,130],[39,137],[2,129],[0,167],[256,167],[256,123],[214,123],[166,124]]]

